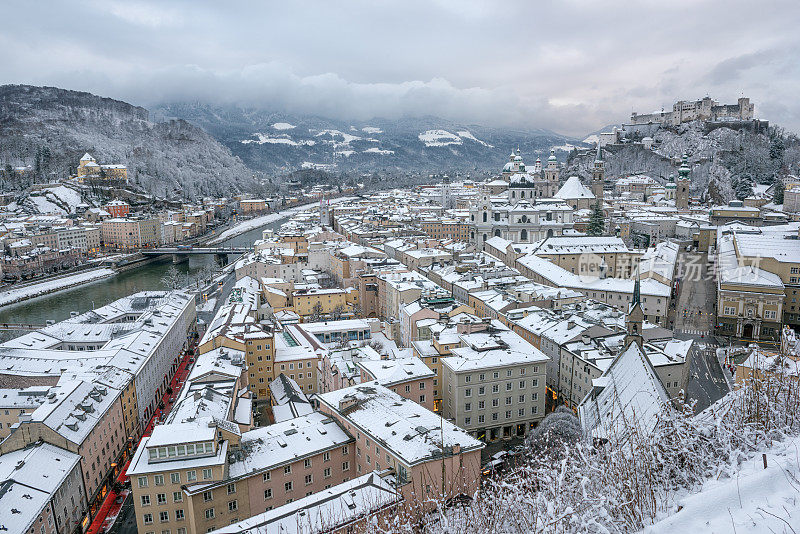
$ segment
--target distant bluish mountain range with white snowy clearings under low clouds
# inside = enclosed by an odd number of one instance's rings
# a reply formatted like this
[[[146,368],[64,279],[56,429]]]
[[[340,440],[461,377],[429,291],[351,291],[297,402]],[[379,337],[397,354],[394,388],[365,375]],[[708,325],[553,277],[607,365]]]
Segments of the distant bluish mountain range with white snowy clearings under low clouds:
[[[165,104],[159,119],[204,128],[251,168],[282,173],[336,171],[497,170],[518,146],[528,158],[551,147],[563,153],[579,140],[541,129],[502,129],[436,117],[343,121],[235,106]]]

